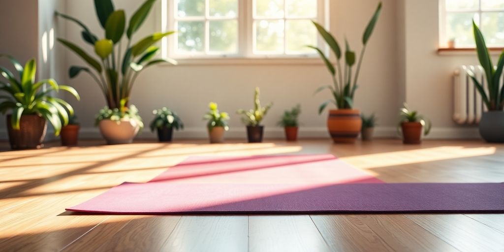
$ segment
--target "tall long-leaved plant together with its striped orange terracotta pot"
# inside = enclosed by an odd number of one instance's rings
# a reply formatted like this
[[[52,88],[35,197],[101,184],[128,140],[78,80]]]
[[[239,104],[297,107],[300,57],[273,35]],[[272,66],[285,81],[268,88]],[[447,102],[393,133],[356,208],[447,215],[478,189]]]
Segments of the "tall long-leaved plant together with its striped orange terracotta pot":
[[[362,64],[362,59],[364,57],[364,52],[366,50],[367,43],[376,25],[376,21],[380,17],[382,10],[382,3],[378,5],[378,8],[374,12],[371,21],[367,25],[364,35],[362,37],[362,50],[360,52],[359,60],[356,62],[356,54],[350,49],[348,41],[345,41],[346,48],[345,52],[341,51],[340,45],[337,40],[331,35],[324,27],[316,22],[313,22],[320,35],[327,42],[331,50],[336,55],[336,67],[332,64],[328,57],[324,54],[324,50],[316,46],[309,46],[317,50],[321,58],[324,60],[329,72],[331,73],[331,78],[333,80],[333,85],[320,87],[316,93],[329,89],[334,99],[328,100],[319,107],[319,114],[321,114],[324,109],[331,103],[336,105],[338,109],[329,111],[329,118],[327,121],[329,133],[331,134],[335,143],[354,143],[361,130],[362,121],[360,119],[360,112],[357,109],[353,109],[353,101],[355,90],[358,85],[358,77],[360,74],[360,67]],[[342,70],[340,60],[344,55],[345,67]],[[356,71],[353,72],[353,67],[357,63]]]

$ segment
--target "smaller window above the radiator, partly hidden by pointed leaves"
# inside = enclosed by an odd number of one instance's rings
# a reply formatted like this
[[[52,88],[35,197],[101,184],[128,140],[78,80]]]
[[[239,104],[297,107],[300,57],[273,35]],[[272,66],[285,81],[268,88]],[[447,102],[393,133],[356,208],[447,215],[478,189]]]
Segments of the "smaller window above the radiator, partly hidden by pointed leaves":
[[[439,44],[474,47],[472,21],[479,25],[487,44],[504,47],[504,0],[439,0]]]

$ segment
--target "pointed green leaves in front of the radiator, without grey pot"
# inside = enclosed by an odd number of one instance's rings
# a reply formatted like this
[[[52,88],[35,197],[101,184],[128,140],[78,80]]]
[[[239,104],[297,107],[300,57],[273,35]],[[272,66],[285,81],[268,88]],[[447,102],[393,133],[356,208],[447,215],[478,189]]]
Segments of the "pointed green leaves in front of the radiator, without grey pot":
[[[502,76],[502,69],[504,68],[504,51],[500,54],[497,68],[494,68],[483,34],[474,21],[473,30],[478,59],[481,67],[483,67],[485,71],[486,78],[484,79],[486,80],[486,89],[488,91],[485,91],[483,87],[484,83],[476,79],[475,74],[471,70],[467,70],[467,72],[473,80],[476,89],[481,94],[483,102],[488,110],[502,110],[504,108],[504,87],[500,87],[500,77]]]

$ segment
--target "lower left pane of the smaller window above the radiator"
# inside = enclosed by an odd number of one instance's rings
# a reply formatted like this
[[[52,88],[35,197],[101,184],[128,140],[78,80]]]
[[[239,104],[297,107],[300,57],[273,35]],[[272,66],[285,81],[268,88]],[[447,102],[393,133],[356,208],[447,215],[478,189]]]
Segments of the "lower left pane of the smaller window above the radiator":
[[[474,46],[472,20],[478,20],[476,13],[449,13],[446,15],[446,38],[455,39],[457,47]]]

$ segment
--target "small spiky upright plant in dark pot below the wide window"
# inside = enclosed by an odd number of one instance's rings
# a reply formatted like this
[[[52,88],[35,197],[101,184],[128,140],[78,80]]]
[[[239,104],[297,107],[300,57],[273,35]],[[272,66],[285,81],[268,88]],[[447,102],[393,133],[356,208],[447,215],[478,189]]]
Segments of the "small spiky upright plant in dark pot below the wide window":
[[[254,109],[250,109],[248,111],[239,109],[236,111],[238,114],[243,115],[241,120],[247,126],[247,140],[249,143],[263,142],[264,126],[261,125],[261,121],[273,106],[273,103],[270,103],[266,107],[261,107],[259,92],[259,88],[256,88],[256,93],[254,95]]]

